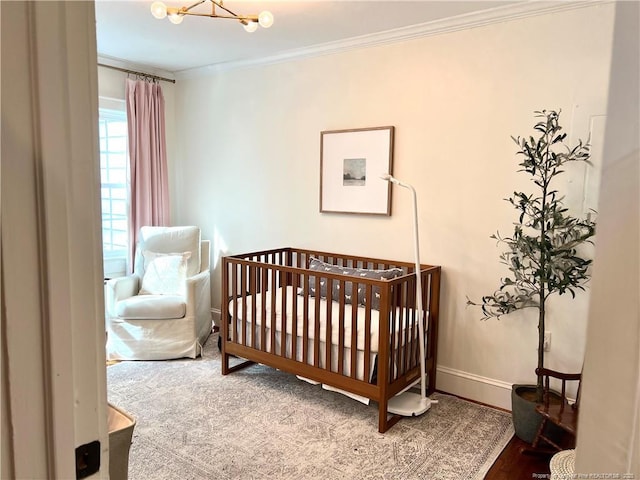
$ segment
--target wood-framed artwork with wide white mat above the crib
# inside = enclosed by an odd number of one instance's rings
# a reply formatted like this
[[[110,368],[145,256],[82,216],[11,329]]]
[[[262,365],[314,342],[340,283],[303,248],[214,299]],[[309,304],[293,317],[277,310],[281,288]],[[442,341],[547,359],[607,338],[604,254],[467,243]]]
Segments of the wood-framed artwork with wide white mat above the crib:
[[[320,133],[320,212],[391,215],[394,127]]]

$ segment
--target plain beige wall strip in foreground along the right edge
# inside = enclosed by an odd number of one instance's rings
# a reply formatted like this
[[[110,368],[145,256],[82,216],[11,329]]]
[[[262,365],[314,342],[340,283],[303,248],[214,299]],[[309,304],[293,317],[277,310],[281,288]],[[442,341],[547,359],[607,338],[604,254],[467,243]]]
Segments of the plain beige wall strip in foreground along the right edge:
[[[639,27],[640,4],[619,2],[576,449],[577,472],[609,478],[640,476]]]

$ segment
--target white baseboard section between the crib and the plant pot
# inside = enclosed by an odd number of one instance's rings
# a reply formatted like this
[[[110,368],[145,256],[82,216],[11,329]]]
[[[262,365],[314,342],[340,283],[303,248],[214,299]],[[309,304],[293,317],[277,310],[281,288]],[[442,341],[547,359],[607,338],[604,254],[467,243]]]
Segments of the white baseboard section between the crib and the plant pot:
[[[436,388],[476,402],[511,410],[511,384],[500,380],[438,366]]]

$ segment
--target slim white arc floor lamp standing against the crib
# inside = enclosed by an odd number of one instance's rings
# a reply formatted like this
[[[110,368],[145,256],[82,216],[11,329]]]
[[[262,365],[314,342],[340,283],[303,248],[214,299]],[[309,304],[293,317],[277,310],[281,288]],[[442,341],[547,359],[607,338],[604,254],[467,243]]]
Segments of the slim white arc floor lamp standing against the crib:
[[[418,196],[413,186],[408,183],[401,182],[397,178],[392,177],[388,173],[382,175],[380,178],[391,183],[395,183],[400,187],[407,188],[411,191],[413,196],[413,241],[414,241],[414,254],[416,261],[416,308],[418,310],[418,334],[420,336],[420,394],[405,390],[397,394],[395,397],[389,399],[389,405],[387,411],[396,415],[402,415],[404,417],[415,417],[422,415],[424,412],[431,408],[432,403],[437,403],[436,400],[431,400],[427,397],[427,385],[425,381],[426,368],[424,364],[424,310],[422,307],[422,275],[420,275],[420,240],[418,238]]]

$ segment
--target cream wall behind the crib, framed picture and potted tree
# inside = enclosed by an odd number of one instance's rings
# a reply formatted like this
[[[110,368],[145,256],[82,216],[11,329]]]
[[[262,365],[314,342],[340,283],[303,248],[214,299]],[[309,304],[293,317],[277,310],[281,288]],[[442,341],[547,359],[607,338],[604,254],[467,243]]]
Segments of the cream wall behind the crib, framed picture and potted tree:
[[[466,296],[492,292],[506,273],[489,235],[509,232],[515,212],[503,199],[529,185],[510,136],[533,133],[533,111],[545,108],[562,109],[573,139],[602,124],[613,11],[179,81],[172,198],[176,219],[213,241],[213,306],[227,253],[292,245],[411,261],[406,191],[394,189],[391,217],[318,211],[320,132],[394,125],[393,173],[418,191],[422,261],[443,268],[438,387],[509,408],[510,384],[534,380],[536,312],[481,322]],[[595,207],[597,173],[573,172],[573,213]],[[579,371],[588,294],[561,300],[549,312],[548,366]]]

